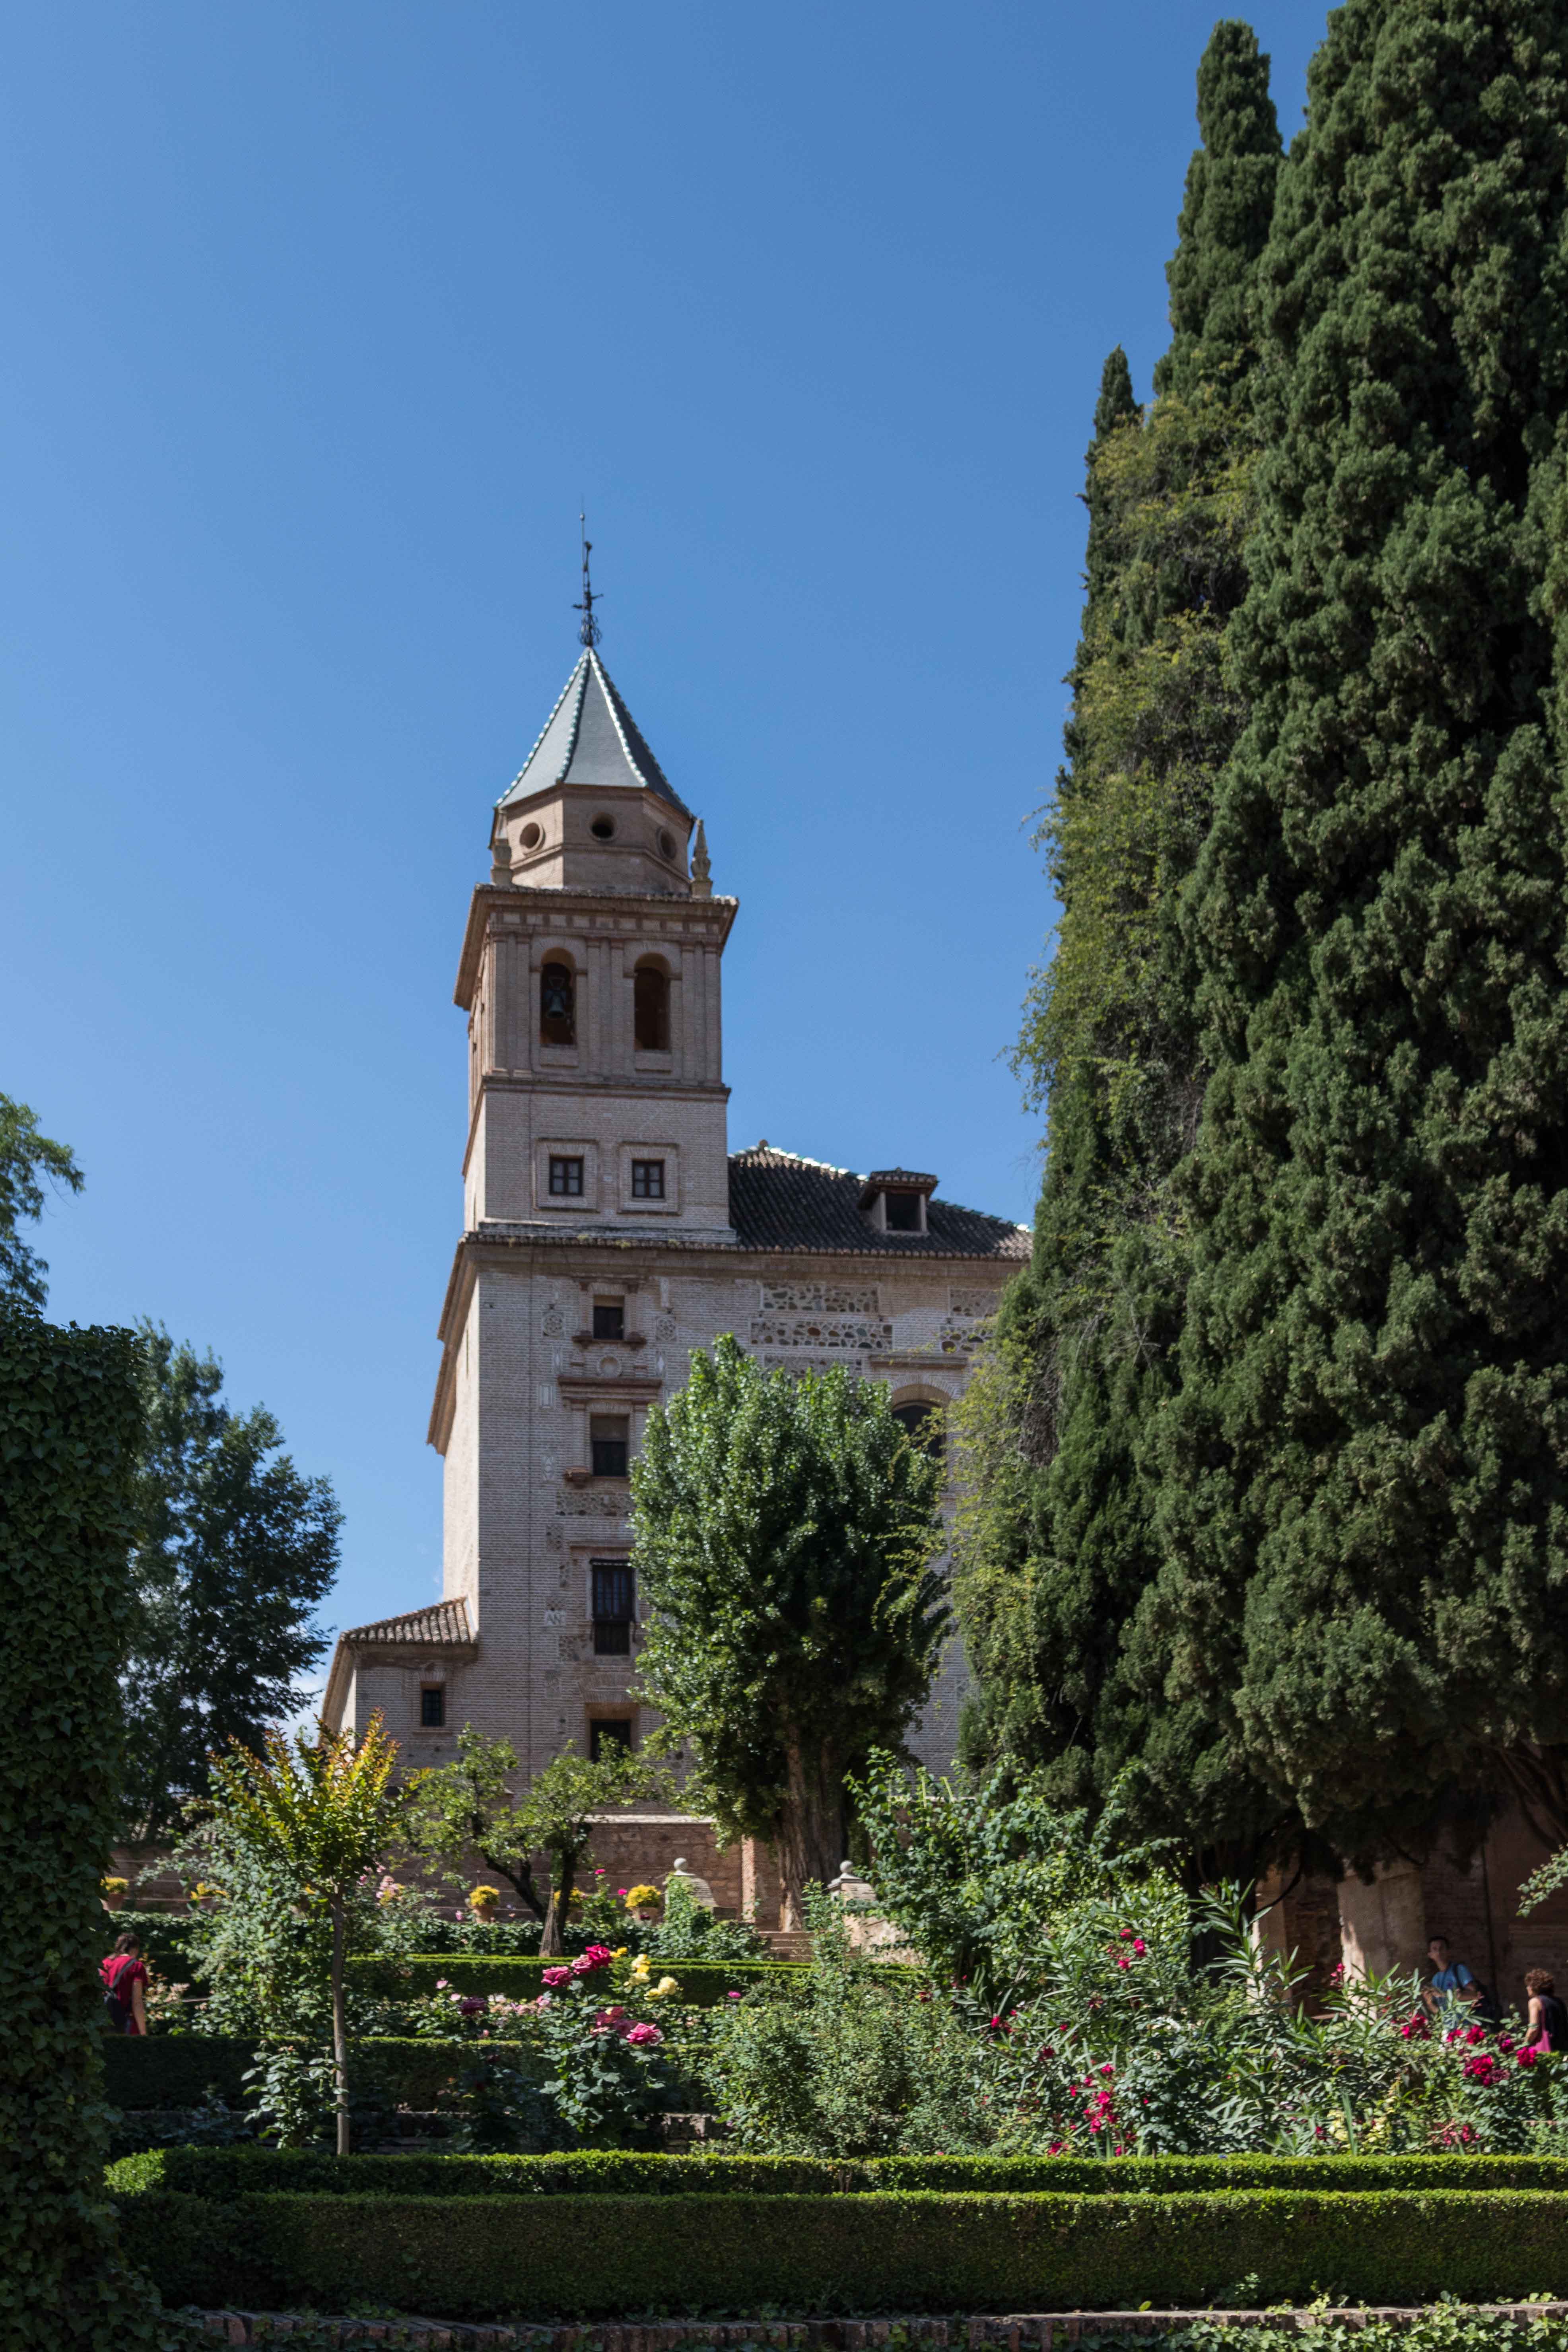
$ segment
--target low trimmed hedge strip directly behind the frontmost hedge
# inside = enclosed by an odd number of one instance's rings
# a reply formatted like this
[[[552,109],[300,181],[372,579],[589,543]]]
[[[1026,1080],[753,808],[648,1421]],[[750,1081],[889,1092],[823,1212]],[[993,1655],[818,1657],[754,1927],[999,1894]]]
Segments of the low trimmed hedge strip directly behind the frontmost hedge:
[[[430,2051],[428,2042],[364,2044]],[[1563,2157],[334,2157],[299,2147],[160,2147],[110,2169],[120,2194],[181,2190],[235,2197],[292,2190],[355,2197],[839,2197],[886,2190],[1178,2197],[1197,2190],[1552,2190],[1568,2194]],[[1540,2281],[1537,2281],[1540,2284]]]

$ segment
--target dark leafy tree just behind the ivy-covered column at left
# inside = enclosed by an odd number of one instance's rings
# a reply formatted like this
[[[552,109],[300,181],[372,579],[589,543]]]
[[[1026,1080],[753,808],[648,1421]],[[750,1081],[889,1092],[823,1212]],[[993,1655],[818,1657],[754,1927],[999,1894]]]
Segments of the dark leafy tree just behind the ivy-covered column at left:
[[[122,1835],[167,1837],[228,1740],[303,1705],[324,1651],[310,1613],[339,1566],[341,1512],[324,1477],[280,1451],[266,1406],[237,1414],[223,1367],[141,1327],[148,1437],[136,1477],[136,1602],[122,1670]]]

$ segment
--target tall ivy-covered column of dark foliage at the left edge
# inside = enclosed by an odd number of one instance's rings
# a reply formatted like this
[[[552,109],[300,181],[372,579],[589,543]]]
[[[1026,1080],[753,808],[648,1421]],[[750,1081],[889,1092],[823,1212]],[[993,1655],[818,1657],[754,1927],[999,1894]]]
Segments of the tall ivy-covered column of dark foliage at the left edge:
[[[129,1331],[0,1310],[0,2340],[16,2352],[148,2340],[99,2192],[96,1976],[139,1439]]]

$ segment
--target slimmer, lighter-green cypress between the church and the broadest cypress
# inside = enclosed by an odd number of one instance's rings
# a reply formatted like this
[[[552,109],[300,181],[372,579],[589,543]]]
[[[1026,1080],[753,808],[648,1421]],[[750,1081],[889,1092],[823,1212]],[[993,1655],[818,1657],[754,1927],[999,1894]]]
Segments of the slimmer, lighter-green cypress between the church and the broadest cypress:
[[[1248,289],[1279,169],[1244,24],[1208,42],[1199,129],[1157,400],[1145,419],[1112,355],[1088,452],[1084,640],[1041,828],[1063,913],[1018,1054],[1048,1098],[1048,1160],[1032,1268],[964,1414],[959,1609],[983,1682],[971,1750],[1046,1759],[1074,1802],[1140,1757],[1154,1825],[1251,1849],[1281,1806],[1208,1752],[1201,1710],[1166,1703],[1138,1475],[1180,1343],[1171,1176],[1204,1082],[1178,896],[1241,715],[1222,652],[1255,466]]]

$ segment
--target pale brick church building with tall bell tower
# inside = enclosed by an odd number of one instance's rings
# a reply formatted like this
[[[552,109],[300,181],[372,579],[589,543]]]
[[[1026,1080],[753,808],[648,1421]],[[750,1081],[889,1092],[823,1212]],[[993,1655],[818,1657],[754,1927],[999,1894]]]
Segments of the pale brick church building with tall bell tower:
[[[849,1364],[917,1435],[1030,1247],[931,1174],[729,1150],[738,903],[599,661],[592,607],[583,637],[494,811],[458,962],[463,1237],[430,1411],[442,1599],[343,1632],[324,1698],[353,1731],[378,1708],[416,1764],[447,1762],[468,1722],[529,1771],[567,1740],[642,1743],[628,1465],[693,1348],[733,1331],[766,1367]],[[912,1736],[931,1766],[952,1759],[964,1684],[954,1639]]]

